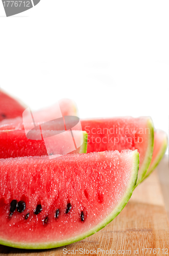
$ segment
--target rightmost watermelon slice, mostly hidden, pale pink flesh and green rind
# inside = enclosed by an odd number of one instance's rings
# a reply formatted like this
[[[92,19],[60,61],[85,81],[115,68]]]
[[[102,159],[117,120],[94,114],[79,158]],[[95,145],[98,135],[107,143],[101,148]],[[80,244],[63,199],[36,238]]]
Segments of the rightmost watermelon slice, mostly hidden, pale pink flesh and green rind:
[[[168,145],[168,138],[167,134],[164,131],[156,130],[154,131],[154,151],[153,156],[151,160],[151,164],[148,168],[148,171],[146,173],[146,176],[144,179],[146,179],[153,170],[157,167],[161,159],[163,158],[166,148]]]

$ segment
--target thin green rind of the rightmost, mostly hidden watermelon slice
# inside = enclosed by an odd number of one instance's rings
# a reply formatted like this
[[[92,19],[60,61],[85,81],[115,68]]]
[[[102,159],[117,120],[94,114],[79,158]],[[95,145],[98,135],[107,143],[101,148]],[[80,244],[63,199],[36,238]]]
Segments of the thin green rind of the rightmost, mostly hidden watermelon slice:
[[[153,170],[157,167],[157,165],[159,164],[159,162],[161,161],[161,159],[163,158],[165,152],[166,152],[166,148],[168,146],[168,139],[167,136],[164,138],[163,140],[163,144],[162,144],[162,148],[156,158],[156,161],[154,162],[154,164],[152,165],[152,167],[150,169],[148,169],[148,172],[146,173],[145,177],[143,180],[145,180],[147,177],[149,177],[149,175],[153,172]]]

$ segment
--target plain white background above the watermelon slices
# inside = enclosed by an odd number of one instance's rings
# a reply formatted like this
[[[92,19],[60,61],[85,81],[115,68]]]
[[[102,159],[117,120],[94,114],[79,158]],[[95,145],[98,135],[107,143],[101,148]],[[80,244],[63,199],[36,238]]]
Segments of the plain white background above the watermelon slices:
[[[5,17],[0,85],[32,110],[69,97],[85,117],[151,116],[168,133],[169,2],[41,0]]]

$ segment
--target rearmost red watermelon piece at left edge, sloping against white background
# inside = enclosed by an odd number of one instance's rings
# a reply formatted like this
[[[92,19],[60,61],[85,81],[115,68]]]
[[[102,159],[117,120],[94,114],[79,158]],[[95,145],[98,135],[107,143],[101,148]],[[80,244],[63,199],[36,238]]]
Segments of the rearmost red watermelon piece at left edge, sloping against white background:
[[[18,116],[21,117],[25,108],[16,99],[0,90],[0,121]]]

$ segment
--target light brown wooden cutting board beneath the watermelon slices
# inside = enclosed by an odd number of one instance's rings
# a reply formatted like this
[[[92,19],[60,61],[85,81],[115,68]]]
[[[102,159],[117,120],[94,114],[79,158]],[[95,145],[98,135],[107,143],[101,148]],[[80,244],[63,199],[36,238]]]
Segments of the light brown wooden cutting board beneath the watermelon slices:
[[[58,256],[72,255],[73,252],[78,255],[169,254],[168,195],[168,157],[165,156],[158,169],[136,187],[120,215],[93,236],[49,250],[22,250],[0,245],[0,255]]]

